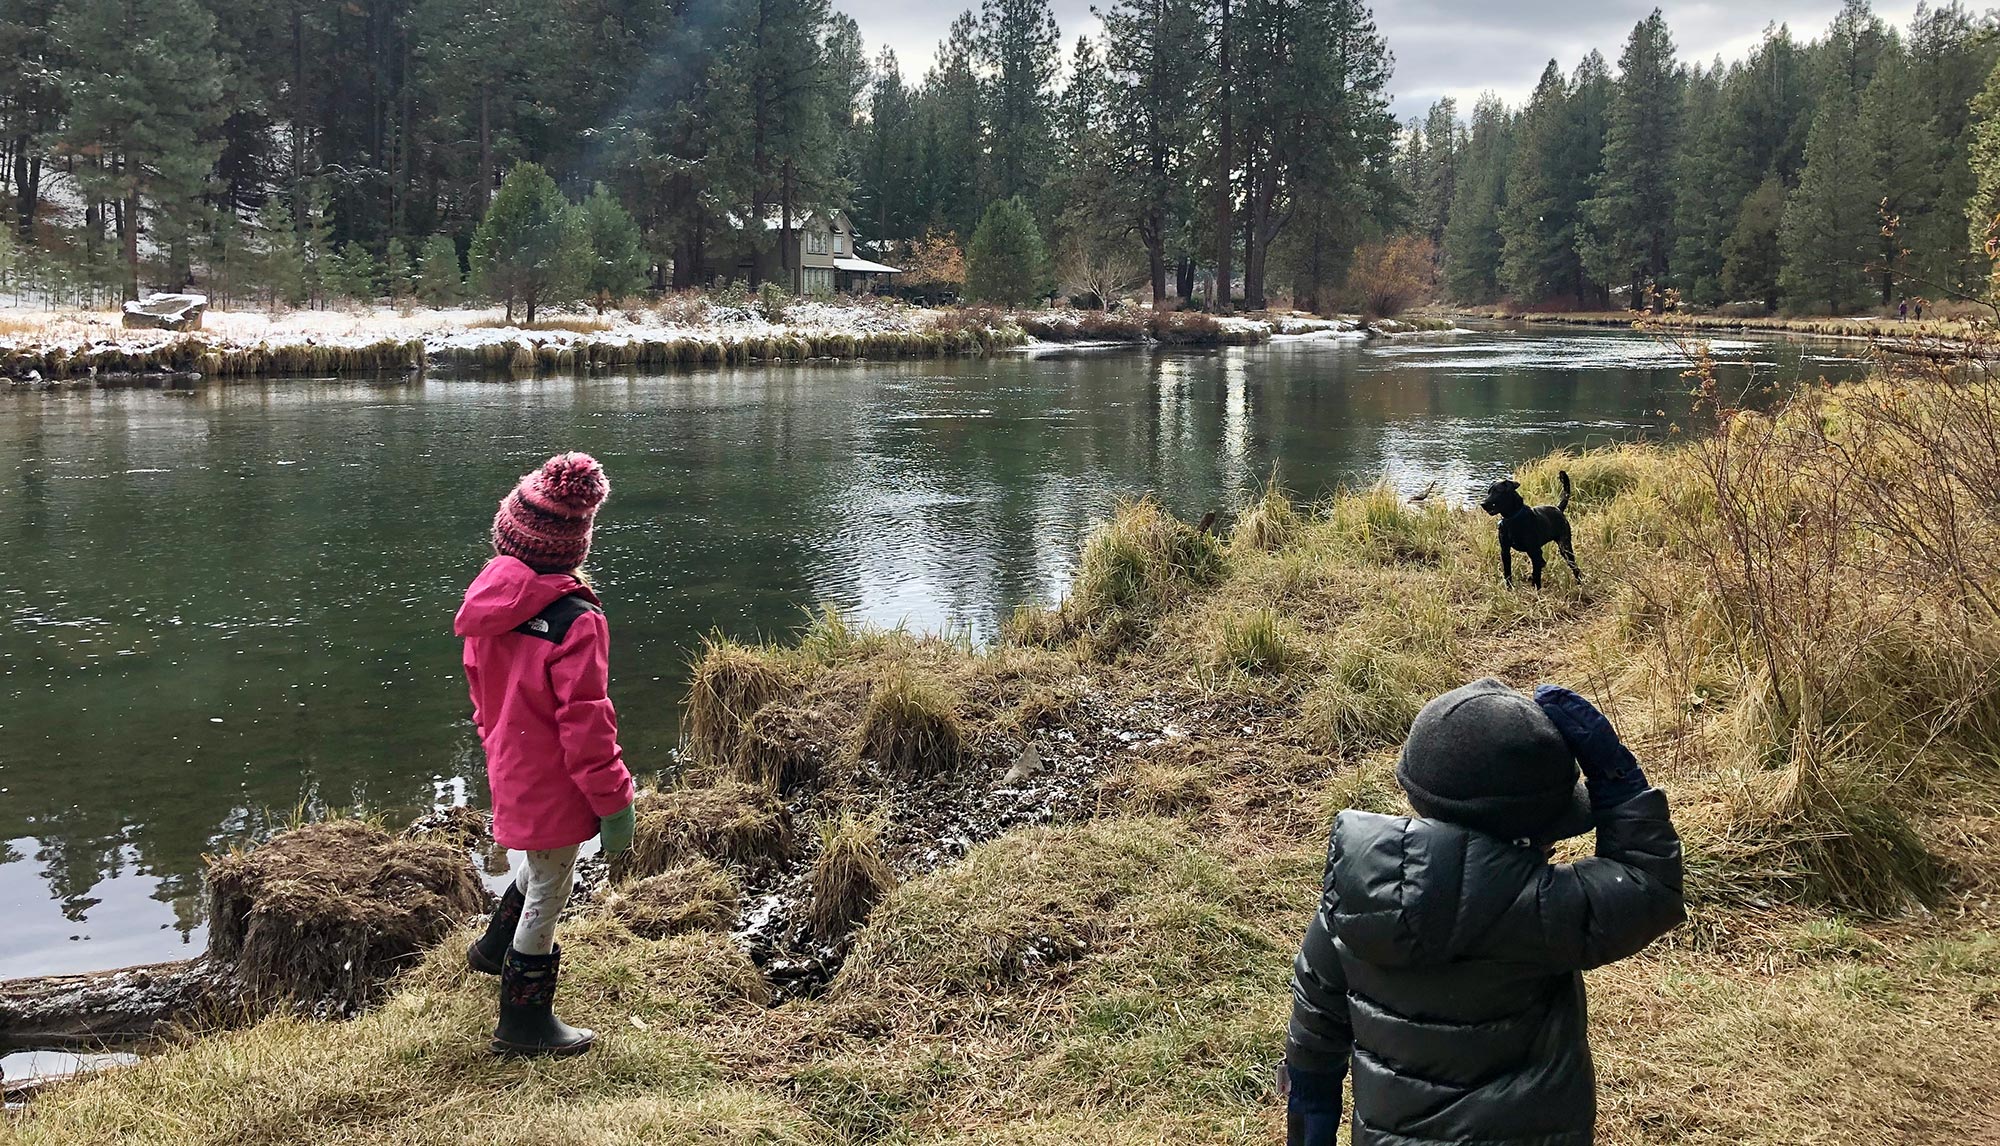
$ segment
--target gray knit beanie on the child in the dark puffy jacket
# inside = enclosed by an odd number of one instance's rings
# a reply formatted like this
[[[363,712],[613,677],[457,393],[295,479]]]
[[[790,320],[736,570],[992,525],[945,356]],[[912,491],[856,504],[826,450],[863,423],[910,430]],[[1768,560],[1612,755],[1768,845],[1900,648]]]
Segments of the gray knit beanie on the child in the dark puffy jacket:
[[[1428,820],[1548,844],[1594,826],[1576,756],[1542,706],[1494,678],[1416,714],[1396,780]]]

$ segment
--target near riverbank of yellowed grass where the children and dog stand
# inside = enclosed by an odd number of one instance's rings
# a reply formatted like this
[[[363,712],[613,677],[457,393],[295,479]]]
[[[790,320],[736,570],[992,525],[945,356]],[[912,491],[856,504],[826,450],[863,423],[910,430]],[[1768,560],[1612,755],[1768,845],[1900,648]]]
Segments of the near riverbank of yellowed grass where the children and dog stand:
[[[1414,710],[1498,674],[1598,696],[1688,842],[1690,924],[1590,974],[1600,1140],[1984,1140],[1996,430],[1994,390],[1906,374],[1674,448],[1548,458],[1520,476],[1538,500],[1558,468],[1576,480],[1582,588],[1560,568],[1542,592],[1500,586],[1476,512],[1268,494],[1220,536],[1122,510],[1070,598],[994,648],[838,618],[782,648],[722,642],[690,710],[696,776],[642,816],[688,910],[612,896],[564,932],[566,1014],[604,1030],[590,1056],[488,1058],[494,988],[460,936],[356,1022],[194,1038],[36,1098],[0,1136],[1274,1142],[1268,1062],[1326,822],[1398,808]],[[1010,768],[1084,798],[954,860],[940,836],[962,824],[912,808],[1004,802]],[[744,784],[802,822],[750,814]],[[852,852],[900,882],[824,992],[772,1006],[728,912],[694,900],[776,848],[818,890],[856,886],[820,862]]]

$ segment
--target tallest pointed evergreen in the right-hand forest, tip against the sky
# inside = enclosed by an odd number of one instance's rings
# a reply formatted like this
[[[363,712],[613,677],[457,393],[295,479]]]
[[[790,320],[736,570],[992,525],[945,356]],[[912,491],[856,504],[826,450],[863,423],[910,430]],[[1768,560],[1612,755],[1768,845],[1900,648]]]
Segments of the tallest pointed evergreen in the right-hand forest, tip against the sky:
[[[1604,122],[1604,166],[1586,204],[1584,262],[1600,282],[1628,284],[1630,306],[1658,282],[1672,254],[1674,154],[1680,70],[1666,20],[1654,8],[1632,28]]]

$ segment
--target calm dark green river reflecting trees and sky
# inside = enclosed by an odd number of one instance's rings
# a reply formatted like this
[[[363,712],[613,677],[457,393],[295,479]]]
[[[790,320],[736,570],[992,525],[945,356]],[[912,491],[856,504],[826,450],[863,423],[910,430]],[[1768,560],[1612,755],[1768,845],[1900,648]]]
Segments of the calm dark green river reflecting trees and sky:
[[[1848,376],[1722,342],[1732,388]],[[1644,336],[486,382],[0,392],[0,978],[194,954],[200,856],[304,810],[484,802],[450,622],[512,480],[608,468],[592,572],[634,772],[700,636],[826,602],[984,638],[1128,494],[1184,514],[1388,478],[1462,498],[1690,422]],[[1588,558],[1586,558],[1588,560]]]

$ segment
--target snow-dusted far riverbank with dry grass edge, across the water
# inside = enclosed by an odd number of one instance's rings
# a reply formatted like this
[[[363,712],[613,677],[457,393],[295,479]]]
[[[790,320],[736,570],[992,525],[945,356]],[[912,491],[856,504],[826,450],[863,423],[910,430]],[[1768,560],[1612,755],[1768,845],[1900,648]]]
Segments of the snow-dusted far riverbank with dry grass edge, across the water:
[[[410,374],[726,366],[810,358],[952,358],[1052,344],[1248,346],[1282,336],[1400,334],[1442,324],[1128,310],[930,310],[890,300],[782,308],[668,296],[510,326],[498,308],[210,310],[202,330],[124,330],[116,312],[0,310],[0,386],[148,376]]]

